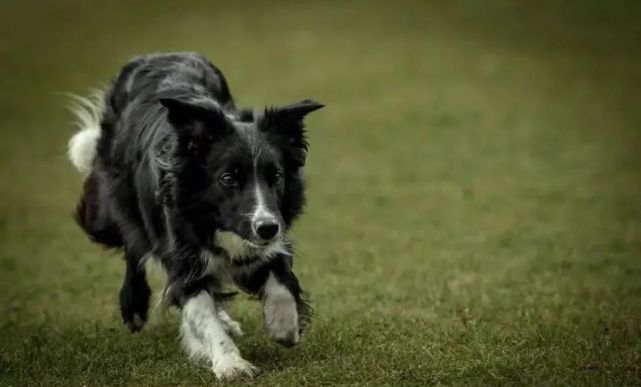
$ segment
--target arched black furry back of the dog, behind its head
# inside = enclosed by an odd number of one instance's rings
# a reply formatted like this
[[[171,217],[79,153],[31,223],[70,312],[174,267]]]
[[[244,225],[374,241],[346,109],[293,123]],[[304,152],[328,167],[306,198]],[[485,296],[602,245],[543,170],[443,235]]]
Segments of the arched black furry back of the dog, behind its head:
[[[173,53],[134,58],[122,68],[106,96],[98,158],[121,158],[117,161],[126,164],[128,155],[152,146],[162,135],[157,132],[166,129],[159,103],[164,93],[201,95],[216,101],[225,111],[235,111],[225,78],[202,55]]]

